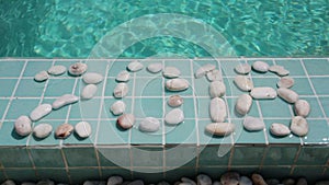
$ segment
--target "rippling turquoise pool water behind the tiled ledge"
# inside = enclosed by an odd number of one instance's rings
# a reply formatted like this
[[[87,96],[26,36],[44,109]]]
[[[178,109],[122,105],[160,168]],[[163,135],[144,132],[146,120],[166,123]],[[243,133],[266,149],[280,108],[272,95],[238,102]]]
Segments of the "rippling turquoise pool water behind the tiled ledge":
[[[157,13],[201,20],[238,56],[329,56],[328,0],[0,0],[0,57],[84,58],[120,24]],[[121,57],[159,55],[209,54],[191,42],[163,36],[140,41]]]

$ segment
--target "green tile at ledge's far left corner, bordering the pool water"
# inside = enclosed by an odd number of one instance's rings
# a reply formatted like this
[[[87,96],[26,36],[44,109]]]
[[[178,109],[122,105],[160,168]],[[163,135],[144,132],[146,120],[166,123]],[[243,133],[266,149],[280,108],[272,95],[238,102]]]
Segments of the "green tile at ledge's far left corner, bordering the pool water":
[[[0,77],[20,77],[24,61],[1,61]]]

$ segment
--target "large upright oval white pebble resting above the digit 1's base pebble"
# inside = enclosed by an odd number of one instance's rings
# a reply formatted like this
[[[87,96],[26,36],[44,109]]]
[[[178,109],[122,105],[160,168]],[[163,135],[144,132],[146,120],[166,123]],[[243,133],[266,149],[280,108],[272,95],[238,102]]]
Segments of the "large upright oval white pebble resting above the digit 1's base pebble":
[[[211,118],[215,123],[222,123],[226,119],[226,104],[223,99],[214,97],[209,105]]]

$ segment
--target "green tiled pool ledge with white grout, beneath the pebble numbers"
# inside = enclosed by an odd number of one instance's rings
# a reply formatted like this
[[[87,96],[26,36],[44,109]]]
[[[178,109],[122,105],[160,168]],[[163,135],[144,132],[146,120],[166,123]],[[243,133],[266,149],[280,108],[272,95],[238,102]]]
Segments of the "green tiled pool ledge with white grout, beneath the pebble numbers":
[[[240,90],[232,83],[234,67],[239,62],[252,63],[256,60],[269,65],[282,65],[291,71],[295,85],[292,88],[300,99],[307,100],[311,113],[307,117],[309,132],[306,137],[294,135],[277,138],[269,132],[272,123],[290,125],[294,115],[293,106],[280,97],[273,101],[254,101],[248,115],[261,117],[266,128],[250,132],[242,128],[242,117],[234,111]],[[41,103],[52,103],[56,97],[72,93],[80,94],[81,78],[67,73],[50,77],[45,82],[35,82],[35,73],[47,70],[53,65],[81,61],[89,66],[88,71],[102,73],[104,81],[98,84],[97,96],[89,101],[53,111],[38,123],[49,123],[56,128],[67,122],[72,125],[88,120],[92,136],[81,140],[76,135],[66,140],[54,135],[43,140],[33,136],[21,138],[13,131],[13,123],[20,115],[30,115]],[[235,170],[241,173],[260,172],[264,176],[300,176],[309,180],[329,176],[329,59],[328,58],[223,58],[223,59],[141,59],[174,66],[182,71],[191,88],[179,94],[184,97],[182,106],[185,120],[177,127],[163,124],[163,115],[170,107],[167,99],[174,94],[164,91],[166,79],[143,69],[132,73],[129,93],[123,99],[127,109],[137,116],[137,123],[146,116],[162,120],[156,134],[140,132],[137,127],[120,130],[116,117],[109,111],[115,101],[112,96],[115,77],[125,70],[129,59],[0,59],[0,182],[5,178],[18,181],[50,177],[57,182],[81,183],[83,180],[105,180],[111,174],[126,178],[148,178],[156,183],[162,178],[175,181],[182,175],[207,173],[218,178],[220,173]],[[227,91],[224,96],[228,105],[228,122],[237,125],[235,134],[218,138],[204,131],[211,123],[208,115],[208,81],[194,79],[194,71],[203,63],[214,63],[222,69]],[[254,86],[276,89],[279,77],[274,73],[249,74]],[[170,150],[180,146],[180,150]],[[219,146],[227,146],[227,153],[219,158]],[[140,150],[155,151],[146,155]],[[157,152],[156,152],[157,151]],[[157,153],[157,154],[154,154]],[[160,153],[160,154],[159,154]],[[193,158],[182,166],[178,161],[193,153]],[[121,157],[120,166],[109,158]],[[107,159],[106,159],[107,158]],[[117,158],[116,158],[117,159]],[[170,169],[174,169],[168,171]],[[159,173],[143,173],[157,171]],[[22,173],[24,172],[24,173]]]

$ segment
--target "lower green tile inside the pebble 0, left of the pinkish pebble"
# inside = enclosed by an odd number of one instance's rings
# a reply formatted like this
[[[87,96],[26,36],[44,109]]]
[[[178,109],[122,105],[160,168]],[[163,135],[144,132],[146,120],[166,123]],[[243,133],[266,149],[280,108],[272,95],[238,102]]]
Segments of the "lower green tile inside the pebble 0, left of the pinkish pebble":
[[[162,99],[149,99],[149,97],[143,97],[143,99],[135,99],[134,102],[134,115],[138,118],[144,117],[156,117],[161,118],[162,117]]]

